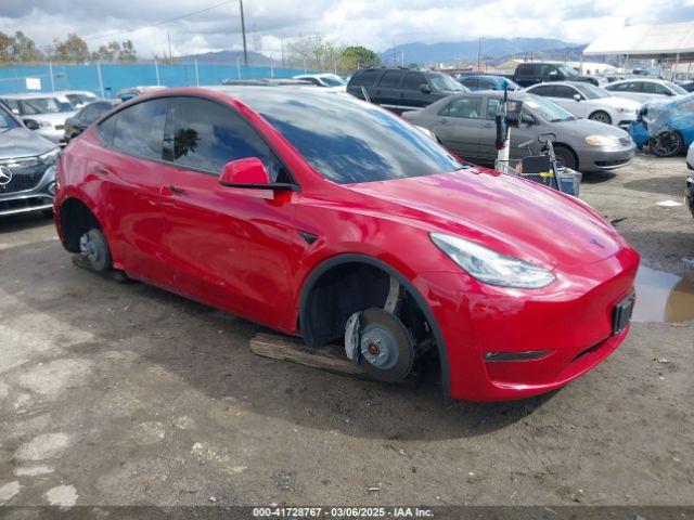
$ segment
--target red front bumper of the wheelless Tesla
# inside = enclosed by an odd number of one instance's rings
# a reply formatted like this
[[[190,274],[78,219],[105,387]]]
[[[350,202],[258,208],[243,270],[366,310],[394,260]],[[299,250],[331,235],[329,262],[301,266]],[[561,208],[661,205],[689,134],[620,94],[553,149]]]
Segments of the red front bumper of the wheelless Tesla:
[[[639,253],[571,268],[543,289],[480,284],[464,273],[427,273],[428,303],[446,343],[450,395],[471,401],[523,399],[560,388],[607,358],[613,310],[633,292]],[[528,361],[489,362],[488,352],[551,351]],[[448,376],[448,377],[446,377]]]

